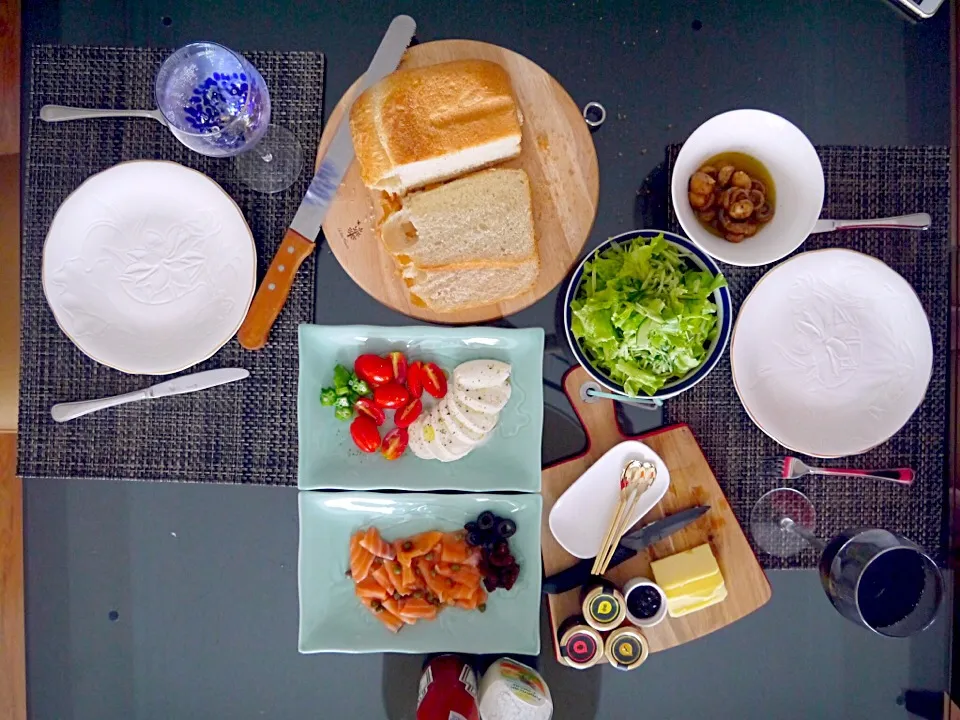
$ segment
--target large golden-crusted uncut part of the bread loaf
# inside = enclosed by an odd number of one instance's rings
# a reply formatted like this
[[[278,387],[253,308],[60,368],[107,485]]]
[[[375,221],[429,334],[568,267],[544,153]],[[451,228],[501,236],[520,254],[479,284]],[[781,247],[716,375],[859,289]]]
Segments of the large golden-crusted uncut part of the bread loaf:
[[[350,109],[367,187],[402,195],[520,154],[510,76],[488,60],[399,70]]]

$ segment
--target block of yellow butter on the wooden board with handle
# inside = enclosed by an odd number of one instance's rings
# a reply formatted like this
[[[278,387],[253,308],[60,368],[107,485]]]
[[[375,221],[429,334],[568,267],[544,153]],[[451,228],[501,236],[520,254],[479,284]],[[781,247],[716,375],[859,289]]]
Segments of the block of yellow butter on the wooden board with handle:
[[[720,566],[709,544],[655,560],[650,568],[667,596],[670,617],[702,610],[727,597]]]

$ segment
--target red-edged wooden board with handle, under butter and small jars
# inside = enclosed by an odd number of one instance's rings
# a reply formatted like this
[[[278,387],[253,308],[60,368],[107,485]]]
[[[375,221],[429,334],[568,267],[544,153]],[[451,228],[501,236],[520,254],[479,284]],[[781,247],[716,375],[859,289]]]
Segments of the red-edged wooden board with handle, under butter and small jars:
[[[540,534],[544,574],[553,575],[577,562],[577,558],[567,553],[550,532],[548,521],[554,503],[607,450],[624,440],[633,439],[650,446],[670,469],[670,487],[667,494],[644,516],[639,525],[695,505],[709,505],[710,511],[683,530],[640,551],[622,565],[611,568],[606,577],[619,587],[623,587],[634,577],[652,578],[652,560],[709,542],[720,565],[720,572],[723,573],[728,593],[727,598],[718,605],[682,618],[667,616],[659,625],[643,628],[641,632],[650,643],[650,652],[696,640],[764,605],[770,599],[770,583],[750,549],[730,503],[717,484],[717,479],[713,476],[713,471],[690,428],[687,425],[673,425],[646,435],[628,437],[620,429],[612,400],[587,403],[580,399],[580,387],[589,379],[583,368],[576,367],[567,373],[563,381],[564,390],[587,433],[587,450],[579,457],[564,460],[543,471],[543,519]],[[606,524],[608,518],[592,518],[590,522]],[[547,596],[553,628],[554,654],[558,661],[561,660],[557,652],[557,629],[570,615],[580,613],[579,596],[579,588],[562,595]]]

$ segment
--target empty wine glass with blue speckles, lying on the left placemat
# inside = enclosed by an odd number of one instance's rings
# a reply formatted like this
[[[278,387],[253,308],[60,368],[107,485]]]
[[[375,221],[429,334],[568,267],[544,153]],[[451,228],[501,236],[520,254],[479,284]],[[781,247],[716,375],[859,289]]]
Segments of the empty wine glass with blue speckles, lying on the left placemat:
[[[186,45],[168,57],[156,82],[157,107],[174,136],[211,157],[235,157],[246,185],[273,193],[303,166],[300,143],[270,124],[270,93],[257,69],[214,42]]]

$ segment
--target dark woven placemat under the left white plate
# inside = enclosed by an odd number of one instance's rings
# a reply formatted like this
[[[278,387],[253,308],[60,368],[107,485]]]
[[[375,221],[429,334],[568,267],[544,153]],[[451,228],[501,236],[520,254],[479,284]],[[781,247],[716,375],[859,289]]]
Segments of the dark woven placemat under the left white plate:
[[[318,53],[244,55],[267,82],[272,122],[304,149],[304,170],[275,195],[242,185],[230,159],[181,145],[148,119],[45,123],[42,105],[153,108],[154,78],[169,50],[36,46],[31,49],[30,121],[23,198],[22,351],[18,469],[26,477],[295,485],[297,475],[297,325],[313,318],[315,264],[304,263],[267,347],[248,352],[231,340],[188,372],[245,367],[239,383],[107,410],[58,425],[50,407],[146,387],[160,378],[125,375],[81,353],[54,321],[40,282],[47,228],[87,177],[123,160],[162,159],[216,180],[253,230],[259,277],[310,181],[320,139],[324,58]]]

